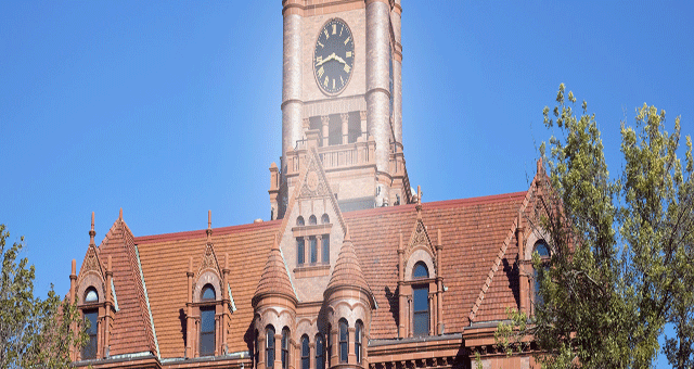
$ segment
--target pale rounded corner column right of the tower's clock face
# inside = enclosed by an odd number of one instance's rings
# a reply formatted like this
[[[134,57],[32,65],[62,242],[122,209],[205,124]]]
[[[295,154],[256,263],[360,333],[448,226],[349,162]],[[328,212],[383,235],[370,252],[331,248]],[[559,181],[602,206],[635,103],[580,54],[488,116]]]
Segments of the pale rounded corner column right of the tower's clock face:
[[[390,138],[390,5],[367,1],[367,120],[376,143],[376,169],[388,171]]]

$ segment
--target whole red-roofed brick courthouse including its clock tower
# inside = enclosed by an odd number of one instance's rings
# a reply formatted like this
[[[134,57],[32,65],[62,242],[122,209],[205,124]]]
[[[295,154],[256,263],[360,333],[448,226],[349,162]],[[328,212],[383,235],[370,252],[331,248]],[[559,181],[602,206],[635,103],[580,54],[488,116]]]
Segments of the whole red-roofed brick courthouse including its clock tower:
[[[531,314],[542,166],[524,192],[423,203],[402,147],[400,0],[284,0],[269,221],[136,236],[123,213],[69,296],[94,368],[529,367],[493,333]],[[529,343],[526,353],[532,351]]]

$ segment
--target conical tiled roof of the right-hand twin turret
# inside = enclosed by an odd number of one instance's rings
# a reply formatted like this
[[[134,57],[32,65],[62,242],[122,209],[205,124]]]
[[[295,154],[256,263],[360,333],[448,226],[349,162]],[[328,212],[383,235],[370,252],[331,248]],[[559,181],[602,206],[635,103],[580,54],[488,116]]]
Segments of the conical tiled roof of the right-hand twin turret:
[[[327,297],[333,291],[342,288],[360,289],[373,296],[364,273],[361,271],[355,245],[351,243],[349,227],[346,227],[345,241],[343,241],[343,246],[339,249],[335,269],[333,269],[333,275],[325,289],[325,296]]]

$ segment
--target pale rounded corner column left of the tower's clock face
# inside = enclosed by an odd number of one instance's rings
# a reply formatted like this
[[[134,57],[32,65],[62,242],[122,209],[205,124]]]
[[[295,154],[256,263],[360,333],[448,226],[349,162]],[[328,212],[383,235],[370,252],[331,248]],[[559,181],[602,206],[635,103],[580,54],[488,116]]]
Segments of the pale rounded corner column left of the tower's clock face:
[[[291,1],[290,1],[291,2]],[[303,137],[301,22],[296,8],[284,10],[284,52],[282,69],[282,155],[294,150]],[[284,169],[284,168],[283,168]]]

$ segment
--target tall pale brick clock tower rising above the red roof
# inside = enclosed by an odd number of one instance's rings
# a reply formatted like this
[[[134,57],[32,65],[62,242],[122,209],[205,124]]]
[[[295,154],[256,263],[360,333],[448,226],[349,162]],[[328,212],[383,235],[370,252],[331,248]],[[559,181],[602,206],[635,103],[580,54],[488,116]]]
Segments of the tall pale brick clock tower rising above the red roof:
[[[343,212],[412,201],[402,152],[400,0],[283,0],[282,218],[316,150]]]

